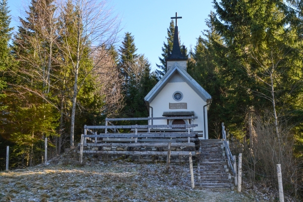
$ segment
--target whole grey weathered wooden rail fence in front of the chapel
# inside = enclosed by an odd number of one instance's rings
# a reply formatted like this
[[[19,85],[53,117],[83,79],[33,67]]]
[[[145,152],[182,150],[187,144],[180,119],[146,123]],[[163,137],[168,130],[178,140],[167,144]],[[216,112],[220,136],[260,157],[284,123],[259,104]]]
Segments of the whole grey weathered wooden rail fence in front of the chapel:
[[[194,131],[197,124],[177,124],[177,125],[151,125],[150,120],[159,119],[190,119],[191,123],[197,117],[147,117],[147,118],[117,118],[106,119],[105,126],[84,126],[84,134],[82,135],[80,145],[80,162],[82,162],[83,154],[107,154],[107,155],[165,155],[167,151],[144,150],[148,147],[167,147],[168,142],[172,143],[172,147],[181,149],[171,151],[171,156],[188,156],[188,150],[194,151],[196,135],[200,131]],[[138,121],[147,120],[148,125],[109,125],[110,121]],[[109,133],[111,129],[114,133]],[[129,133],[117,133],[117,129],[129,129]],[[119,130],[118,130],[119,131]],[[87,142],[87,140],[89,142]],[[84,149],[90,147],[90,149]],[[119,147],[119,150],[112,149]],[[126,150],[125,148],[141,147],[139,150]],[[123,149],[121,149],[123,148]],[[193,154],[194,156],[194,154]]]

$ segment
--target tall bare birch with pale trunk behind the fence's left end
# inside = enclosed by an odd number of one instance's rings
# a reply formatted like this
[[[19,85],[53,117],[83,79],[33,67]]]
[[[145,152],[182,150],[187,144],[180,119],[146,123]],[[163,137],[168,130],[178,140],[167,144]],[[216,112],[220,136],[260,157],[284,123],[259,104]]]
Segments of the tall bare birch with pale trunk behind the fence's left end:
[[[74,146],[74,127],[77,105],[77,95],[87,79],[87,76],[99,67],[98,61],[102,61],[109,52],[110,47],[116,42],[119,32],[119,21],[113,16],[107,1],[97,3],[95,0],[69,1],[73,5],[72,13],[64,9],[65,2],[59,6],[62,19],[62,31],[59,33],[61,42],[58,47],[63,54],[62,63],[71,67],[73,74],[72,109],[71,109],[71,133],[70,145]],[[100,47],[106,47],[108,51],[97,55],[95,63],[87,68],[87,60],[92,59],[95,51]]]

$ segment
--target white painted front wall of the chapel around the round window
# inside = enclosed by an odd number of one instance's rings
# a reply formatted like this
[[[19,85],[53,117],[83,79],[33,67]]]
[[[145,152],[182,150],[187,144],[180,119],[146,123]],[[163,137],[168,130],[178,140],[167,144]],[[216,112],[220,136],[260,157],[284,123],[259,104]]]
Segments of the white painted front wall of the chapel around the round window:
[[[176,91],[183,93],[183,98],[179,102],[173,99],[173,94]],[[187,109],[171,110],[169,109],[169,103],[187,103]],[[194,120],[194,124],[198,124],[194,130],[202,130],[206,132],[206,139],[208,139],[207,107],[205,107],[206,130],[204,130],[203,121],[203,106],[205,105],[206,102],[186,82],[167,83],[155,99],[149,104],[150,107],[153,107],[154,117],[162,117],[163,112],[194,111],[194,115],[198,117]],[[149,116],[151,117],[151,109],[149,110]],[[166,125],[167,120],[154,120],[153,124]]]

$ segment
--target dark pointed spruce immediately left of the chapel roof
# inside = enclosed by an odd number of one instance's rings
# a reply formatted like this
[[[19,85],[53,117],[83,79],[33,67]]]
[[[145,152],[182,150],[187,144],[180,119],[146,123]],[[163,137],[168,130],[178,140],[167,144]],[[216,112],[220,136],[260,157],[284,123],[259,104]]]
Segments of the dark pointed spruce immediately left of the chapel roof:
[[[147,110],[143,101],[144,96],[156,84],[156,78],[150,73],[150,64],[143,55],[136,54],[137,48],[134,36],[125,33],[120,46],[119,67],[124,80],[124,103],[121,111],[124,117],[146,117]]]

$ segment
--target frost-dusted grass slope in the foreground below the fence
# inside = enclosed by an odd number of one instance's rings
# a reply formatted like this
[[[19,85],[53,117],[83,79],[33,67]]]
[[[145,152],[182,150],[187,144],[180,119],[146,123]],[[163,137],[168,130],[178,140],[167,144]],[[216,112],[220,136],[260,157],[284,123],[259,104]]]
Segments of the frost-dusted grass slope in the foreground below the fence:
[[[188,166],[54,160],[0,172],[0,201],[255,201],[230,189],[190,188]]]

